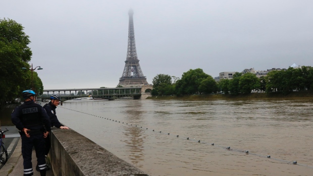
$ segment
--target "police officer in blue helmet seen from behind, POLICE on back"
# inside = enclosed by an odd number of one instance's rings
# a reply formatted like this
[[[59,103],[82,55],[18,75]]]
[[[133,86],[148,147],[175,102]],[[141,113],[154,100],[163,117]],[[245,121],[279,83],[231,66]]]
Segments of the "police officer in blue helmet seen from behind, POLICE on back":
[[[36,95],[34,91],[25,90],[22,94],[25,102],[14,109],[11,120],[16,128],[20,130],[22,138],[24,175],[34,174],[31,162],[32,149],[34,146],[37,165],[40,170],[40,175],[42,176],[46,173],[43,139],[46,138],[50,132],[50,120],[43,107],[34,103]]]

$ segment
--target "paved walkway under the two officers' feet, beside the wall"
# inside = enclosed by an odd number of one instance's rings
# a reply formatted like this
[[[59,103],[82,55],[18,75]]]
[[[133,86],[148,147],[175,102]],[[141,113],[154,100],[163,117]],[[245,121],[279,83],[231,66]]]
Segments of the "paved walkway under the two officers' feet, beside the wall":
[[[20,139],[20,138],[19,138]],[[22,140],[20,139],[13,154],[9,158],[8,162],[2,167],[0,170],[0,175],[3,176],[16,176],[16,175],[23,175],[23,157],[22,157]],[[40,173],[36,171],[35,165],[37,163],[36,161],[36,154],[33,150],[32,153],[32,161],[33,161],[33,170],[34,170],[34,176],[40,176]],[[53,171],[48,170],[46,172],[47,176],[53,176]]]

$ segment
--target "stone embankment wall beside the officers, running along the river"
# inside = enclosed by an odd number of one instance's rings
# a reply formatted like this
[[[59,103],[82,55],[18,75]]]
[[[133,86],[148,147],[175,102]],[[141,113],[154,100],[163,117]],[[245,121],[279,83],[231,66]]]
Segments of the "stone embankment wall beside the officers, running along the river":
[[[74,130],[53,128],[50,137],[55,175],[148,175]]]

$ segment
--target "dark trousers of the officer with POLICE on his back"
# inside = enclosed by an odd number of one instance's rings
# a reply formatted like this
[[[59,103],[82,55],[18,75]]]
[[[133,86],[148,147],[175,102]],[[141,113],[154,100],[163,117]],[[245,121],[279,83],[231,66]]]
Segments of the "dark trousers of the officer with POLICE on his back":
[[[24,175],[33,175],[33,168],[31,162],[31,155],[33,147],[35,147],[37,165],[42,170],[40,175],[45,175],[45,159],[44,159],[44,138],[43,134],[30,135],[27,138],[25,135],[21,136],[22,138],[22,155],[23,155],[23,165],[24,165]]]

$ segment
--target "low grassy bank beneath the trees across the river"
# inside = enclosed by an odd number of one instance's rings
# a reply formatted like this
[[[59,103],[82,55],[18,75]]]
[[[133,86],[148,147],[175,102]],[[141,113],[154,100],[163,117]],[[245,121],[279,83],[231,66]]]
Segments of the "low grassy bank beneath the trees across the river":
[[[251,99],[251,98],[313,98],[313,91],[282,93],[250,93],[246,95],[185,95],[185,96],[151,96],[147,99]]]

